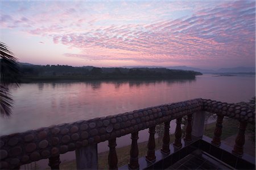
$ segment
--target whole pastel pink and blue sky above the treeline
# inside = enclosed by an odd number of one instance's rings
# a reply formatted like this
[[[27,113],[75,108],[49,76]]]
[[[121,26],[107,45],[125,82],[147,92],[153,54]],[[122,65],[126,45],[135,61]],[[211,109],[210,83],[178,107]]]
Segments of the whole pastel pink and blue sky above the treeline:
[[[0,1],[20,62],[72,66],[255,66],[255,1]]]

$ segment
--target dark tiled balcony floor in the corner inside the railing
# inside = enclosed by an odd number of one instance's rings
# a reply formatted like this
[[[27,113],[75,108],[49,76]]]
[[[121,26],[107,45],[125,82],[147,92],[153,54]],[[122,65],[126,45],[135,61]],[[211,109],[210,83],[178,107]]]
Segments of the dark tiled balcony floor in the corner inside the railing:
[[[233,169],[209,154],[196,150],[167,169]]]

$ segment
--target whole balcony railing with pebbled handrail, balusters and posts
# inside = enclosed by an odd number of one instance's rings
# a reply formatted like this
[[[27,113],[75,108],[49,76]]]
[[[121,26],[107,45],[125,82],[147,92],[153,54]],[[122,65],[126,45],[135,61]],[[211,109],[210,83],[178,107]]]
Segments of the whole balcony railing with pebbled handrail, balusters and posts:
[[[97,169],[97,143],[109,141],[109,169],[117,169],[118,157],[115,139],[131,134],[130,169],[139,169],[138,131],[149,129],[146,161],[154,163],[155,126],[164,123],[161,152],[170,154],[170,121],[176,119],[176,148],[182,147],[181,118],[187,117],[184,141],[203,136],[205,111],[217,114],[212,144],[220,146],[224,116],[240,122],[233,155],[243,154],[245,130],[248,123],[255,124],[255,106],[221,103],[220,101],[194,99],[164,104],[114,116],[81,120],[70,124],[53,125],[1,137],[1,169],[19,169],[20,165],[49,159],[49,167],[59,169],[60,154],[76,151],[77,169]],[[90,156],[88,157],[88,154]]]

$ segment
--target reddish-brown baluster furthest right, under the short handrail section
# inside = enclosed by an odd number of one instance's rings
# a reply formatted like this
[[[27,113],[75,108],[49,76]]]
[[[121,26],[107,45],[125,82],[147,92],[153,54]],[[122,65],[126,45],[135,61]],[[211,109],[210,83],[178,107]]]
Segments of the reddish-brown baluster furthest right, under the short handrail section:
[[[234,145],[232,153],[238,156],[243,155],[243,145],[245,145],[245,130],[247,122],[240,122],[239,131],[236,138],[236,144]]]

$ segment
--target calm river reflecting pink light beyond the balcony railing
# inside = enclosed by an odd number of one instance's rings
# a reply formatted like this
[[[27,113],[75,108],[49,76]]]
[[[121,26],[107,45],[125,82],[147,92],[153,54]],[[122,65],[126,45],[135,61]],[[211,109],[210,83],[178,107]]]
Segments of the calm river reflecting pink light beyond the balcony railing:
[[[0,135],[22,132],[135,109],[203,98],[228,103],[255,96],[255,75],[215,76],[195,80],[130,80],[62,83],[26,83],[10,90],[14,99],[11,117],[0,118]],[[174,131],[171,122],[171,132]],[[139,142],[146,141],[139,132]],[[128,137],[125,137],[128,138]],[[119,138],[119,147],[127,145]],[[130,139],[128,140],[130,142]],[[106,150],[106,143],[99,146]]]

